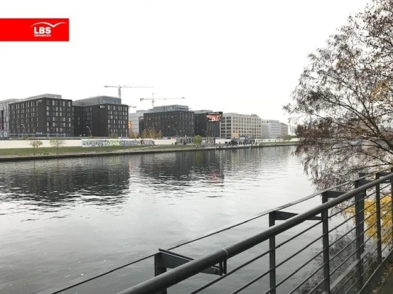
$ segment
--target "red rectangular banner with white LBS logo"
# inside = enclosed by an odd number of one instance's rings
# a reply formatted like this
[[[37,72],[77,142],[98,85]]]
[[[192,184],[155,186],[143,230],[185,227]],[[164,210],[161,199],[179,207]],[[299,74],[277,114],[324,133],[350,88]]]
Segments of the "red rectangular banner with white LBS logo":
[[[67,42],[69,19],[0,19],[0,41]]]

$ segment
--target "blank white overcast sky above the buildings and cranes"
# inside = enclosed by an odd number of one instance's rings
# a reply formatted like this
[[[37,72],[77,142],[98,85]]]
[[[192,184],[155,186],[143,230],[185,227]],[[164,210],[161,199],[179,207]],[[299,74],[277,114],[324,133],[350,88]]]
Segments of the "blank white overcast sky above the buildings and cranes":
[[[0,43],[0,99],[52,93],[117,96],[137,109],[258,114],[282,106],[307,55],[366,0],[2,0],[0,18],[69,18],[70,42]],[[3,29],[3,28],[1,28]],[[134,110],[132,110],[134,111]]]

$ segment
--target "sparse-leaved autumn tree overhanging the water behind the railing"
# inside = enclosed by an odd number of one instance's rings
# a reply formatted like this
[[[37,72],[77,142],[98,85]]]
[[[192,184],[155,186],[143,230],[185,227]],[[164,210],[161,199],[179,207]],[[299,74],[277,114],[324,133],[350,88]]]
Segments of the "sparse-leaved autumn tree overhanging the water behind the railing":
[[[331,36],[284,109],[297,128],[305,171],[318,188],[393,162],[393,1],[372,0]]]

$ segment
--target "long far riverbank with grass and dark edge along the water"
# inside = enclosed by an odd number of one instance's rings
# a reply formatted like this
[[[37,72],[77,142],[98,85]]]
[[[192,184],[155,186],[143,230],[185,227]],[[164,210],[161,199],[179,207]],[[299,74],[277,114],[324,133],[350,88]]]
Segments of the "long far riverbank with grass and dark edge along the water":
[[[162,152],[181,152],[191,150],[216,150],[216,149],[239,149],[239,148],[262,148],[294,146],[298,142],[268,142],[261,145],[154,145],[154,146],[116,146],[116,147],[39,147],[35,148],[14,148],[0,149],[0,161],[19,161],[54,158],[73,158],[90,156],[109,156],[123,154],[143,154]]]

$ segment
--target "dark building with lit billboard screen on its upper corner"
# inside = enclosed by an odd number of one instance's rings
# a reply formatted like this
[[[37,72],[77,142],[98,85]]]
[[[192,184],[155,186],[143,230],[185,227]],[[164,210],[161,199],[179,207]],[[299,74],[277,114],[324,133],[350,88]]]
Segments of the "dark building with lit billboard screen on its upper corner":
[[[195,135],[220,138],[222,112],[197,110],[195,113]]]

